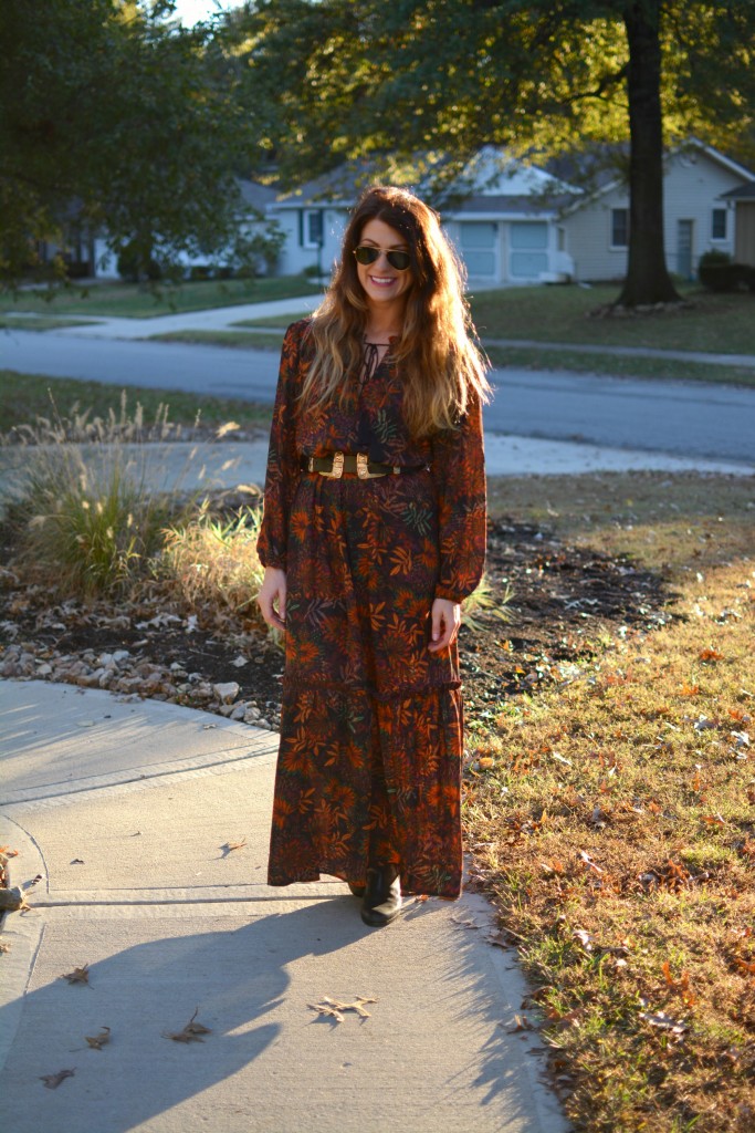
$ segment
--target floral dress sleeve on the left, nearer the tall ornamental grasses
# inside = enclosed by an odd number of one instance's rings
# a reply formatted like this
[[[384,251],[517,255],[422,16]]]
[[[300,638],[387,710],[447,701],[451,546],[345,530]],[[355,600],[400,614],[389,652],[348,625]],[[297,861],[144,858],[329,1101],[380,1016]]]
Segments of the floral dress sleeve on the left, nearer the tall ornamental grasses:
[[[267,454],[263,523],[257,539],[257,554],[263,565],[281,570],[286,569],[289,513],[300,475],[294,436],[294,401],[298,393],[301,335],[302,323],[294,323],[283,340]]]

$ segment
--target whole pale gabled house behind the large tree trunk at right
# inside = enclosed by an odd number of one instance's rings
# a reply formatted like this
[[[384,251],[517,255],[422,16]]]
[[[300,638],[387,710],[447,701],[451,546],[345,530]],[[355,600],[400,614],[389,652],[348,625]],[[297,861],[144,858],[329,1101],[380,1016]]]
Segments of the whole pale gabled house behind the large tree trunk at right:
[[[744,184],[743,184],[744,182]],[[664,163],[664,246],[669,271],[681,279],[697,275],[700,257],[717,249],[735,255],[736,229],[755,221],[755,173],[696,139],[670,152]],[[732,198],[731,194],[741,197]],[[741,213],[735,204],[746,205]],[[736,221],[736,224],[735,224]],[[629,244],[629,189],[625,178],[612,177],[585,198],[566,206],[560,218],[565,248],[580,280],[621,280]],[[755,256],[755,225],[749,237]],[[753,262],[750,259],[750,262]]]

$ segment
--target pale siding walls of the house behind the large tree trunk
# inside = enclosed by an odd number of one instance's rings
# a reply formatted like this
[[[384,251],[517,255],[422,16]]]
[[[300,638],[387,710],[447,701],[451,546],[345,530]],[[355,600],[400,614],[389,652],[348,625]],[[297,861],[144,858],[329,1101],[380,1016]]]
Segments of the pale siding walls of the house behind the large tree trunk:
[[[695,147],[668,159],[663,179],[663,244],[669,271],[694,276],[703,253],[717,248],[733,252],[735,211],[718,199],[722,193],[741,185],[743,176],[726,163]],[[611,213],[629,208],[629,193],[619,185],[563,219],[566,246],[580,280],[619,280],[626,274],[626,248],[611,247]],[[713,237],[713,210],[727,210],[724,239]],[[684,235],[690,239],[689,261],[685,263]]]

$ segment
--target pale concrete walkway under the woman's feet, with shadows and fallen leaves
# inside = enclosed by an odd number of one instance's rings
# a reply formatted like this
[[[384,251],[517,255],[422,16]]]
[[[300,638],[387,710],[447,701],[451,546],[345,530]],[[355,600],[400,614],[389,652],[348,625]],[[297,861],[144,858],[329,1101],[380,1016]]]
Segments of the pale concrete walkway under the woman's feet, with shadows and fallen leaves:
[[[35,681],[0,682],[0,726],[32,905],[2,931],[5,1133],[567,1128],[484,901],[375,930],[334,878],[268,888],[275,735]],[[368,1019],[310,1006],[358,996]],[[165,1037],[195,1012],[204,1041]]]

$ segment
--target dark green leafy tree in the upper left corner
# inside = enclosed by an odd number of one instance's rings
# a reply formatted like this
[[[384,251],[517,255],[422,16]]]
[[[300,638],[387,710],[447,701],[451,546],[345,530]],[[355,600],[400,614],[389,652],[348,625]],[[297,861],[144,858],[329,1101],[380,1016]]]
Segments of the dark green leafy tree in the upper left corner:
[[[172,10],[0,5],[0,281],[70,222],[102,230],[141,273],[238,232],[234,173],[254,164],[254,121],[215,28],[186,31]]]

